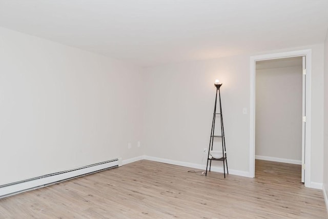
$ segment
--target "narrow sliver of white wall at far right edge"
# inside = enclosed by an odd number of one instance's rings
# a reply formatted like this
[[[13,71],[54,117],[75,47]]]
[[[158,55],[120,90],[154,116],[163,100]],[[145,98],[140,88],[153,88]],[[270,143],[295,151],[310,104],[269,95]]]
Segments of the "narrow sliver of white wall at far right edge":
[[[328,31],[324,41],[324,149],[323,149],[323,187],[328,211]]]

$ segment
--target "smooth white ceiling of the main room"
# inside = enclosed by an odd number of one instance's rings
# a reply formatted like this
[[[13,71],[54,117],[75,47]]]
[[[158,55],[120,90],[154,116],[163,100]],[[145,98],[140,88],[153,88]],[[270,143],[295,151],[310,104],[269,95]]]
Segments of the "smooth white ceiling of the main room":
[[[139,66],[323,43],[324,1],[0,1],[0,25]]]

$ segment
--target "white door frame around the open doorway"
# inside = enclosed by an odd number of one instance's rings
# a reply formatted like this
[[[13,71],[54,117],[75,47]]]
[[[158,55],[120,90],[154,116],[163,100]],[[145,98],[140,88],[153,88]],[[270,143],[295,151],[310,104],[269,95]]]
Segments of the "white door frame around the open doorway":
[[[249,177],[255,177],[255,64],[256,61],[287,58],[295,56],[305,56],[306,64],[306,82],[305,82],[305,187],[311,187],[311,70],[312,70],[312,50],[297,50],[289,52],[271,53],[251,56],[250,72],[251,72],[251,92],[250,92],[250,165]],[[301,120],[302,118],[300,118]],[[304,133],[302,133],[302,137]]]

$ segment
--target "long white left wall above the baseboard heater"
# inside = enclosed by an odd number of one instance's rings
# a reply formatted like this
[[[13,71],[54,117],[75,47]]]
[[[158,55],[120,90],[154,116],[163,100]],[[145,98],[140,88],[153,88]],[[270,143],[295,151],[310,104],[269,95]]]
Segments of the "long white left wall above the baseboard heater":
[[[0,185],[144,154],[141,69],[5,28],[0,48]]]

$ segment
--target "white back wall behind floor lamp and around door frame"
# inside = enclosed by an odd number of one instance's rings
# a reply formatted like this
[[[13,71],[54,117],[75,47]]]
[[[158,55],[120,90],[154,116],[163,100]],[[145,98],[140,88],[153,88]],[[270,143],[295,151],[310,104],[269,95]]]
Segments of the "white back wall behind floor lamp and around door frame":
[[[268,51],[312,49],[311,181],[322,183],[323,44]],[[214,80],[221,87],[224,131],[231,170],[249,171],[250,56],[170,64],[145,69],[146,154],[175,161],[206,164],[214,107]],[[221,165],[217,163],[217,165]]]

